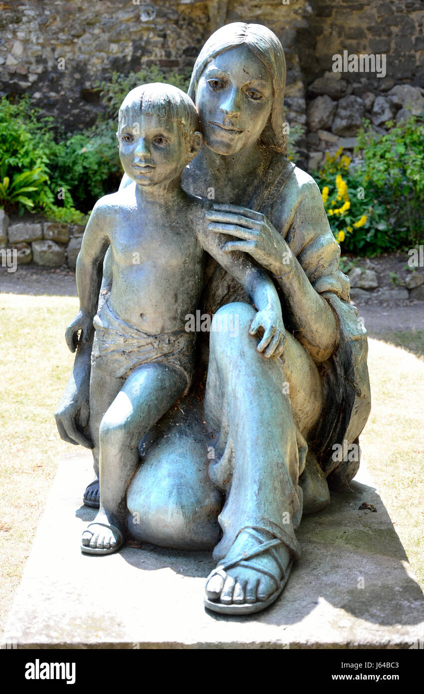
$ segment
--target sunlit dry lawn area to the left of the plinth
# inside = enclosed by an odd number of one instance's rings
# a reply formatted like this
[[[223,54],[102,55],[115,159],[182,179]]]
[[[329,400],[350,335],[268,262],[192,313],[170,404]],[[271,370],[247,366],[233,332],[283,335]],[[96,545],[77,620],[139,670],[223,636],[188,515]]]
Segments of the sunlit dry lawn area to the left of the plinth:
[[[70,448],[53,412],[74,360],[65,328],[77,310],[77,298],[0,294],[1,628],[58,460]]]

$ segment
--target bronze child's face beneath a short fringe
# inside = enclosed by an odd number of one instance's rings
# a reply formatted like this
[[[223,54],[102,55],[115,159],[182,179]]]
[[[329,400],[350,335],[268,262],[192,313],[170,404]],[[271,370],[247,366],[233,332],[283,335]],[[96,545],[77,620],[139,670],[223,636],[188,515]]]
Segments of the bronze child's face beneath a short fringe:
[[[126,111],[117,133],[119,158],[135,183],[153,186],[180,177],[189,159],[183,132],[171,118]]]

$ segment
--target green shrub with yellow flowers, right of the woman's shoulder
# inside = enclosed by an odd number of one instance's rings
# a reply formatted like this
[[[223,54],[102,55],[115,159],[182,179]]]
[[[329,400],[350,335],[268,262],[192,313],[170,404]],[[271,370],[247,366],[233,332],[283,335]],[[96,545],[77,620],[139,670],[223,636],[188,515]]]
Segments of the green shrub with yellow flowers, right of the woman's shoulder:
[[[314,171],[335,239],[344,251],[378,255],[410,248],[424,235],[424,126],[411,117],[385,135],[358,133],[352,164],[339,149]]]

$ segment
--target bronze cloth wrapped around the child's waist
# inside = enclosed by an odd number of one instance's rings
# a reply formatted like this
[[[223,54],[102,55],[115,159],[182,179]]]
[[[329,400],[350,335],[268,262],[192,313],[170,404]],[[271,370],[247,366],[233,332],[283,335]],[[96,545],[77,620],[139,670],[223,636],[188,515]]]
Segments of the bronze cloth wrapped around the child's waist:
[[[122,321],[106,301],[94,316],[92,365],[116,378],[128,378],[141,364],[169,364],[183,371],[187,389],[194,372],[196,334],[186,330],[151,335]]]

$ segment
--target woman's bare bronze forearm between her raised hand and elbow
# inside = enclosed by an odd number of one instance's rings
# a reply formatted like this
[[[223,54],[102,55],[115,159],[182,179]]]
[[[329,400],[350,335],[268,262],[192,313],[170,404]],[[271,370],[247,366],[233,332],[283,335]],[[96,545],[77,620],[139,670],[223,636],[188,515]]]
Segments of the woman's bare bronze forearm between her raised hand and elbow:
[[[325,362],[339,339],[337,319],[325,298],[312,287],[287,244],[275,278],[284,293],[295,337],[315,362]]]

